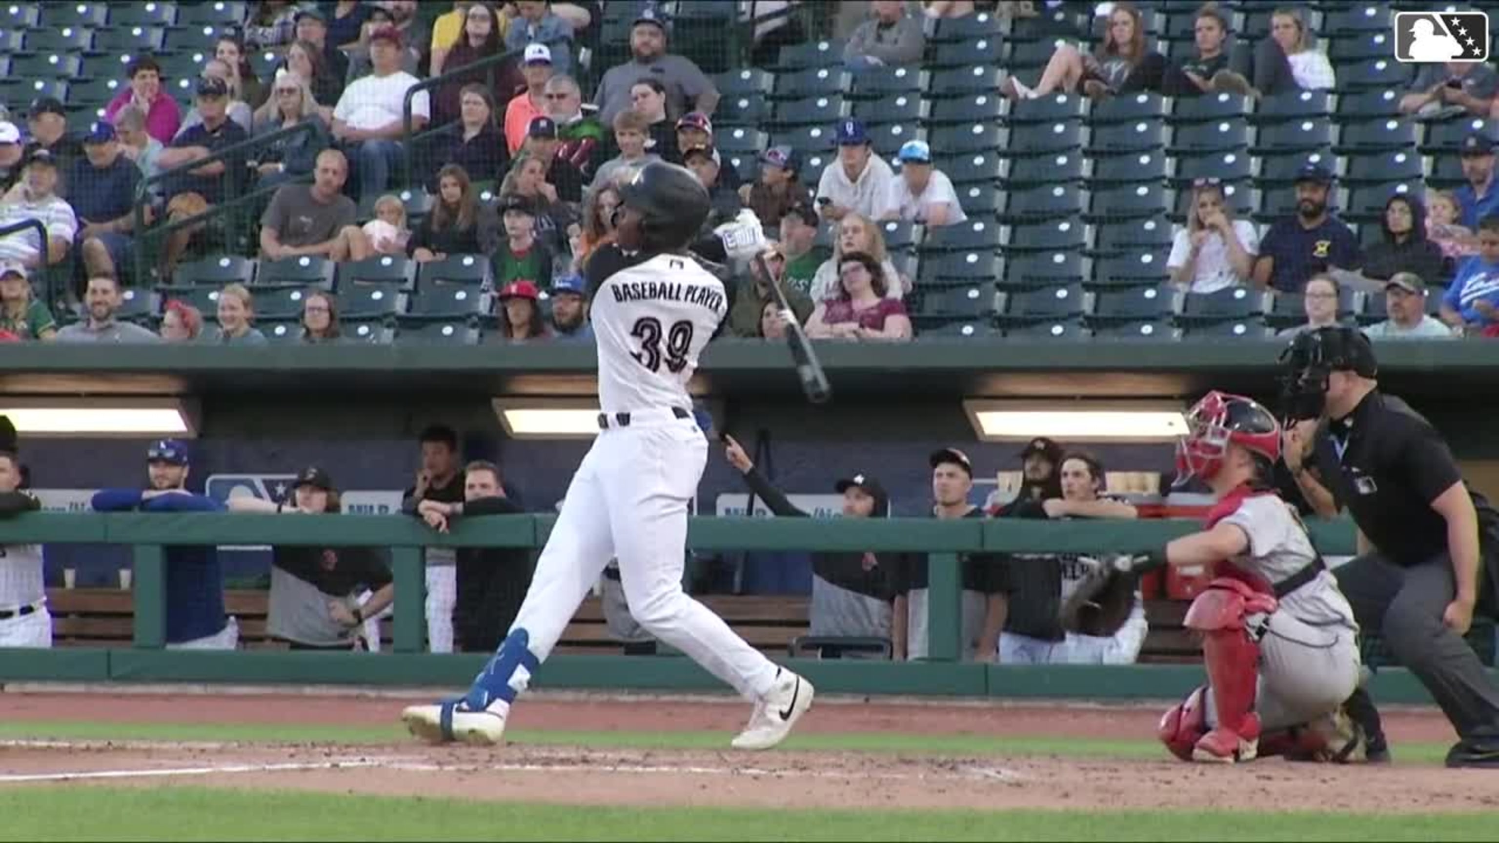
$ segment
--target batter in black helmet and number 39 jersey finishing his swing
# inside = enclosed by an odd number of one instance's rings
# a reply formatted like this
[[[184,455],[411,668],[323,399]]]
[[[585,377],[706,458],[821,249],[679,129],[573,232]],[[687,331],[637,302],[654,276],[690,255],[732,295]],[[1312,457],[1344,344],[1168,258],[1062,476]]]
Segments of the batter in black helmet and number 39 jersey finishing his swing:
[[[708,459],[687,382],[729,309],[723,282],[685,252],[708,218],[708,190],[685,168],[652,162],[621,188],[621,202],[618,244],[586,267],[598,438],[573,476],[516,622],[468,694],[402,714],[420,738],[499,742],[516,694],[610,556],[640,626],[755,700],[733,747],[779,744],[812,704],[811,682],[682,591],[688,502]]]

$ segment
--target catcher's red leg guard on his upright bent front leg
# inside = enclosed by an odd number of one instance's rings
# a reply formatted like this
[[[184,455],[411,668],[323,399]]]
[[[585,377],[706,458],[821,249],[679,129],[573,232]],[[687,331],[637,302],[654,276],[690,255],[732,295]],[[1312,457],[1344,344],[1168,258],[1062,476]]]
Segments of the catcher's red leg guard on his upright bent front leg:
[[[1259,681],[1259,638],[1276,598],[1244,580],[1219,578],[1187,609],[1184,626],[1202,633],[1216,723],[1244,740],[1259,735],[1255,687]]]

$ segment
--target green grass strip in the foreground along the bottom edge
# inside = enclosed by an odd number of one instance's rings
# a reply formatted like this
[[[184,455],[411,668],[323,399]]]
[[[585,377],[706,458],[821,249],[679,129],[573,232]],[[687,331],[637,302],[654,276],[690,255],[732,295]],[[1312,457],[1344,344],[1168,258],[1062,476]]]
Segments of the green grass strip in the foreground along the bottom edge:
[[[15,840],[1493,840],[1495,814],[739,810],[217,790],[0,792]]]

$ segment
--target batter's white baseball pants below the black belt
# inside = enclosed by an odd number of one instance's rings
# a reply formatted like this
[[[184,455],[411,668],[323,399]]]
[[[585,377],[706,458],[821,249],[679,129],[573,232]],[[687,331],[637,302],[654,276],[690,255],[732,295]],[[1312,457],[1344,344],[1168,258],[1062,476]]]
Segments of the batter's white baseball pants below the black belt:
[[[775,682],[775,664],[723,618],[682,591],[688,502],[708,462],[708,440],[670,410],[636,411],[594,440],[568,484],[511,630],[523,628],[541,662],[610,558],[630,614],[750,699]]]

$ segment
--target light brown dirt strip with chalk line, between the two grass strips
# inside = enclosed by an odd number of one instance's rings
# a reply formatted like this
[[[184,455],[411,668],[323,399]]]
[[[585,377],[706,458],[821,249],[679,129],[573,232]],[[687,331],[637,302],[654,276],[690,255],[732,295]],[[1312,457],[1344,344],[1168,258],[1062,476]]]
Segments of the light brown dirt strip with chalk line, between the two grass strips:
[[[556,804],[738,807],[1202,808],[1493,812],[1493,774],[1436,766],[1238,768],[1172,760],[851,753],[588,750],[511,746],[10,744],[0,786],[180,778],[223,788]]]

